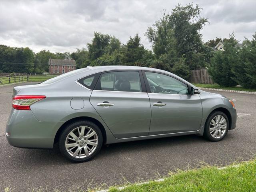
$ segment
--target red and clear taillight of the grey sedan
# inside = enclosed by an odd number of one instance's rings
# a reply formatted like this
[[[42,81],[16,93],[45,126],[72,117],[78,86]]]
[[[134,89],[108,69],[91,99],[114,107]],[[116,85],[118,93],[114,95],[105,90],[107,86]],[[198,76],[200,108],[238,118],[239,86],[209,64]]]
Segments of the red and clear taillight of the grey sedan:
[[[44,95],[16,95],[12,98],[12,107],[17,110],[30,110],[32,104],[44,98]]]

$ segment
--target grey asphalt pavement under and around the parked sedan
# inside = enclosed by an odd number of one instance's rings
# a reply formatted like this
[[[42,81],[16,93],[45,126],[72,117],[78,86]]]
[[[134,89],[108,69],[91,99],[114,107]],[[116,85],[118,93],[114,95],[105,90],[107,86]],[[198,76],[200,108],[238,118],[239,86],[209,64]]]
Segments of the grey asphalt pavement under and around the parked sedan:
[[[28,84],[28,83],[25,83]],[[16,86],[16,85],[15,85]],[[5,125],[11,110],[13,86],[0,87],[0,191],[14,192],[46,187],[68,189],[124,180],[136,182],[167,176],[177,168],[198,167],[201,162],[225,166],[249,160],[256,154],[256,95],[216,92],[234,100],[238,119],[220,142],[196,135],[177,136],[103,146],[93,160],[74,164],[52,150],[15,148],[8,144]]]

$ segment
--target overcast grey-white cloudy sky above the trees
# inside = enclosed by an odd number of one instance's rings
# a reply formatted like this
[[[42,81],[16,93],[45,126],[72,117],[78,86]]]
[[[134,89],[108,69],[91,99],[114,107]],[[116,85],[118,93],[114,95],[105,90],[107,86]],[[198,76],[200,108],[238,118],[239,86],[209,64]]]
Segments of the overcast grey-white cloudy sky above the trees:
[[[161,17],[161,10],[192,1],[5,1],[0,0],[0,44],[28,46],[34,52],[74,52],[91,42],[94,31],[118,37],[126,43],[139,33],[142,44],[150,48],[144,33]],[[193,1],[209,19],[201,31],[206,42],[228,38],[251,39],[256,31],[256,1]]]

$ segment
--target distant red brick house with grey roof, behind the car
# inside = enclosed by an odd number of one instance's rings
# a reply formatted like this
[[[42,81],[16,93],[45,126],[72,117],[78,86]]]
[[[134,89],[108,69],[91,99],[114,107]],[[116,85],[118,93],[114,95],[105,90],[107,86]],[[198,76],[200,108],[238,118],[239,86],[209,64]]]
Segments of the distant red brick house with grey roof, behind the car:
[[[62,74],[76,69],[75,60],[52,59],[48,61],[50,74]]]

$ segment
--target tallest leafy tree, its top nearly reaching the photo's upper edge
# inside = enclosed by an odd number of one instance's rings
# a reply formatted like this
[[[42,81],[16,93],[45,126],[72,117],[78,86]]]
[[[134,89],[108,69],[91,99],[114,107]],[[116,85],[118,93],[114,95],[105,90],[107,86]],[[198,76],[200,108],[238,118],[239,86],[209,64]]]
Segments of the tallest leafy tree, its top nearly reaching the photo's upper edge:
[[[201,17],[202,8],[193,3],[186,6],[176,6],[170,15],[170,26],[174,31],[176,39],[176,52],[178,58],[186,58],[186,64],[190,69],[196,69],[198,63],[193,60],[194,54],[200,52],[202,44],[202,34],[199,33],[203,26],[208,23],[208,19]]]

